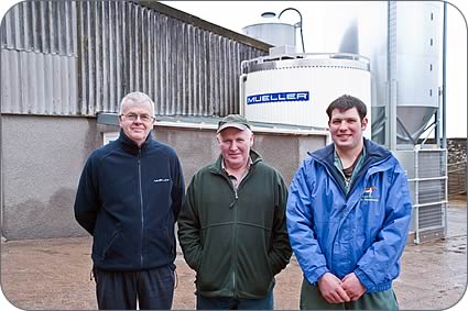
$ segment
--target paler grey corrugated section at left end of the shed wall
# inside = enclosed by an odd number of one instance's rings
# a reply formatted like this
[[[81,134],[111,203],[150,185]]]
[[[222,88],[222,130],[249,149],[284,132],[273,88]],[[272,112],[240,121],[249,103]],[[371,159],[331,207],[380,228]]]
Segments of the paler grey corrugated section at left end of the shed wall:
[[[25,1],[1,24],[1,112],[76,114],[76,3]]]

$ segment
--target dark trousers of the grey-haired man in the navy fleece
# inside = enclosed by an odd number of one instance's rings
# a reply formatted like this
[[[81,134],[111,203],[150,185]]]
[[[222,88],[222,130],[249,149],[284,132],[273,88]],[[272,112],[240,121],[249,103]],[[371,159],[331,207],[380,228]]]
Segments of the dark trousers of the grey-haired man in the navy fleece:
[[[99,310],[170,310],[174,297],[174,268],[116,273],[94,268]]]

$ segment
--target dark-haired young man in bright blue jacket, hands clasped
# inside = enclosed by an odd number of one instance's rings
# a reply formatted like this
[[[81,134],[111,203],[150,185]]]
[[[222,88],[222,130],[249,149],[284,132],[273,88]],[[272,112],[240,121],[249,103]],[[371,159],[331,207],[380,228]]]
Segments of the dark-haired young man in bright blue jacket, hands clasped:
[[[366,104],[351,96],[327,109],[333,144],[298,168],[287,199],[291,246],[304,273],[301,309],[398,309],[411,198],[396,158],[363,138]]]

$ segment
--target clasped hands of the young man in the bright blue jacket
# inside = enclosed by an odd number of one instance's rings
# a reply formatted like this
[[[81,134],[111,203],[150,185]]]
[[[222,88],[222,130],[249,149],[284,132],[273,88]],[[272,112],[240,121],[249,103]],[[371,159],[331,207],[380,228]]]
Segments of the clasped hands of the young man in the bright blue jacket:
[[[342,279],[326,273],[317,281],[317,285],[322,296],[329,303],[356,301],[366,292],[366,287],[355,273],[346,275]]]

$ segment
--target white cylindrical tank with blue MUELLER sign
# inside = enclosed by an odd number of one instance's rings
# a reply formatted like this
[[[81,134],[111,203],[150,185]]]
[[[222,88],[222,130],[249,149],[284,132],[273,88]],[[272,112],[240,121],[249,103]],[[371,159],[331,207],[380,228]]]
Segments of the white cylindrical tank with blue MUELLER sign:
[[[242,63],[240,84],[241,111],[250,121],[327,129],[326,109],[342,95],[368,104],[370,118],[369,59],[359,55],[259,57]]]

